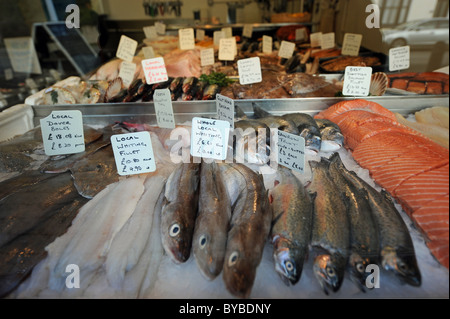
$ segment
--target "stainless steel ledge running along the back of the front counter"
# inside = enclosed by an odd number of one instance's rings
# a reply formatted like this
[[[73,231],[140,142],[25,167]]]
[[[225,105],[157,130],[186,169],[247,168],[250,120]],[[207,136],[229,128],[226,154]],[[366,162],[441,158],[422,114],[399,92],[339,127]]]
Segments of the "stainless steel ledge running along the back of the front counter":
[[[274,115],[303,112],[310,115],[319,113],[331,105],[355,98],[298,98],[298,99],[256,99],[235,100],[235,105],[247,115],[253,114],[253,104],[256,104]],[[377,102],[385,108],[406,115],[432,106],[449,106],[448,95],[429,96],[380,96],[365,97],[364,99]],[[174,101],[172,103],[177,123],[190,121],[193,117],[215,117],[215,101]],[[76,105],[35,105],[34,125],[47,117],[54,110],[80,110],[83,114],[83,123],[88,125],[109,125],[116,121],[134,123],[156,124],[156,115],[153,102],[114,103],[114,104],[76,104]]]

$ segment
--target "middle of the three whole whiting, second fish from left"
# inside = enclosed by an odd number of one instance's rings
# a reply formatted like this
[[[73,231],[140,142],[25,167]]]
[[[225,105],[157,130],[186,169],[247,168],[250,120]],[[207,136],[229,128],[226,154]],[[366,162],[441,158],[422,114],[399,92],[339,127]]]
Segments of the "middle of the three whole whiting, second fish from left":
[[[222,271],[230,218],[230,198],[218,165],[203,162],[192,251],[207,279],[216,278]]]

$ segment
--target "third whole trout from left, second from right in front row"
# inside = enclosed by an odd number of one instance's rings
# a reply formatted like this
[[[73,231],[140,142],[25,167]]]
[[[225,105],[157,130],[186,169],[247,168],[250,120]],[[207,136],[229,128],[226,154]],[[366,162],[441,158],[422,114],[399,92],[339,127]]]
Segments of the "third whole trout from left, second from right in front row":
[[[349,272],[361,291],[365,291],[366,279],[370,274],[369,271],[366,272],[366,268],[370,264],[377,265],[379,261],[378,229],[372,216],[367,191],[348,181],[344,170],[346,168],[339,153],[334,153],[330,157],[330,176],[348,198],[351,245]]]

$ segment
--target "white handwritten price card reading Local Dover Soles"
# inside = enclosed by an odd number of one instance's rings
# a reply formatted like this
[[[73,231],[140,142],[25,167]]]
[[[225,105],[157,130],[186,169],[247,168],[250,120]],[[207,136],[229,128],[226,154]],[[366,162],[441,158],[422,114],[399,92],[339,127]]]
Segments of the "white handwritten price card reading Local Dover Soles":
[[[46,155],[84,152],[83,116],[80,111],[53,111],[41,119],[40,124]]]

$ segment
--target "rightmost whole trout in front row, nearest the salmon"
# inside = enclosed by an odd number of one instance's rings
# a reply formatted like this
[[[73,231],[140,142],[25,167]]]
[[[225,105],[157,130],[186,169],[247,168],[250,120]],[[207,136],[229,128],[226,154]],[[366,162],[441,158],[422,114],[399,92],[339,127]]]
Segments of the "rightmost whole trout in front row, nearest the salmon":
[[[384,190],[379,193],[355,172],[344,171],[344,173],[345,177],[356,187],[364,188],[367,191],[372,214],[379,229],[380,256],[383,268],[394,273],[401,282],[420,286],[421,274],[411,235],[392,198]]]

